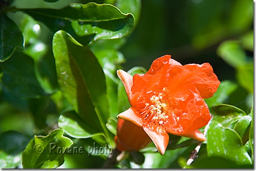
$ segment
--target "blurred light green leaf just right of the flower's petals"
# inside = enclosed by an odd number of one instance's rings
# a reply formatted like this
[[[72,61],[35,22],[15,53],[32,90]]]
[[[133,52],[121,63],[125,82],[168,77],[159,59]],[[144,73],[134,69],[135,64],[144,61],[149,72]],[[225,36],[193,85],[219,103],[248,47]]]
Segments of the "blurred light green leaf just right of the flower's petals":
[[[225,80],[220,82],[220,87],[211,98],[205,99],[209,107],[224,103],[229,95],[236,90],[238,85],[232,81]]]

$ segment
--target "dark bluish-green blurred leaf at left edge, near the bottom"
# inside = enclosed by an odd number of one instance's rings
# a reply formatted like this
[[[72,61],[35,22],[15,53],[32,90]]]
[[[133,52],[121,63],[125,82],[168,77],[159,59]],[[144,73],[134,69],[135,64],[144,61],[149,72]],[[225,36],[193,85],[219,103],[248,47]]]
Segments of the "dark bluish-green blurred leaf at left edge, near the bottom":
[[[0,133],[0,150],[8,155],[18,155],[25,149],[28,142],[27,137],[14,130]]]

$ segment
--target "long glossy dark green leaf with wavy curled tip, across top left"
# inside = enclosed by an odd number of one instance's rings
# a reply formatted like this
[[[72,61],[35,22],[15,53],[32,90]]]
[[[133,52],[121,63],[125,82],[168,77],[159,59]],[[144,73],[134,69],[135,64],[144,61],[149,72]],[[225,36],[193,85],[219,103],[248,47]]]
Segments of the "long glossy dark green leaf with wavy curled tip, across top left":
[[[122,38],[134,27],[132,14],[123,14],[110,4],[70,4],[60,10],[19,10],[43,22],[53,33],[65,30],[83,45],[90,41]]]

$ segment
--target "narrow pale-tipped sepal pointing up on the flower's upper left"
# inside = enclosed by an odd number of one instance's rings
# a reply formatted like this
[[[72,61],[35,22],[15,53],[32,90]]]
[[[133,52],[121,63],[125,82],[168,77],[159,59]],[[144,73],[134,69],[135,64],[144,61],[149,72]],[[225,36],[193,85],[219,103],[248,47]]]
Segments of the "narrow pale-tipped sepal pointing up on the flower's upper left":
[[[131,103],[131,99],[132,99],[132,96],[133,96],[132,92],[131,92],[131,87],[133,85],[133,77],[129,73],[127,73],[123,70],[117,70],[117,76],[122,81],[122,84],[125,87],[125,92],[126,92],[126,95],[128,97],[128,100]]]

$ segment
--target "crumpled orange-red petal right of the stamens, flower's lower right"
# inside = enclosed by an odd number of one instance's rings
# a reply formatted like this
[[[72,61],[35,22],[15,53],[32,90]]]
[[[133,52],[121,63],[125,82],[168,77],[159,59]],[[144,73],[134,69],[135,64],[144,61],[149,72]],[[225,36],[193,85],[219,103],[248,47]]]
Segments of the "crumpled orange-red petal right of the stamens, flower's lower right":
[[[211,119],[207,104],[198,94],[191,90],[184,92],[186,99],[177,100],[172,97],[171,103],[176,104],[176,109],[172,106],[173,114],[168,117],[168,122],[164,128],[168,133],[180,134],[197,130],[205,126]],[[185,95],[184,95],[185,96]]]

